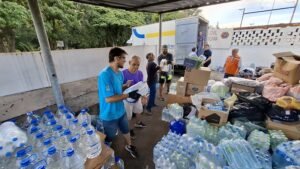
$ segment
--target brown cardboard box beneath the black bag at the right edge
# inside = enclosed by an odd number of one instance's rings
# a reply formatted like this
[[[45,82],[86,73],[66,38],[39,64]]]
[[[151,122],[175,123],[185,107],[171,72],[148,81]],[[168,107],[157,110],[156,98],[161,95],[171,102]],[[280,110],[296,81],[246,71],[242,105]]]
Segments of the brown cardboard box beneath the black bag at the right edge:
[[[266,127],[267,129],[271,130],[281,130],[289,139],[300,139],[300,122],[277,122],[272,121],[270,118],[267,118]]]

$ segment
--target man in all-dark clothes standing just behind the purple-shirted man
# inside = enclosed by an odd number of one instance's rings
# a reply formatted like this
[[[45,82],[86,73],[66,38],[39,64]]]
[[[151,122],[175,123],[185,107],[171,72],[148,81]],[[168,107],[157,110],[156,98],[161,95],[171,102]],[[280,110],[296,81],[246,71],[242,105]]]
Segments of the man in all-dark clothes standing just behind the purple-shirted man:
[[[155,56],[153,53],[148,53],[146,55],[148,60],[147,64],[147,84],[150,88],[150,94],[148,99],[148,104],[146,107],[147,113],[151,115],[151,108],[155,105],[155,95],[156,95],[156,83],[157,83],[157,71],[160,67],[154,62]]]

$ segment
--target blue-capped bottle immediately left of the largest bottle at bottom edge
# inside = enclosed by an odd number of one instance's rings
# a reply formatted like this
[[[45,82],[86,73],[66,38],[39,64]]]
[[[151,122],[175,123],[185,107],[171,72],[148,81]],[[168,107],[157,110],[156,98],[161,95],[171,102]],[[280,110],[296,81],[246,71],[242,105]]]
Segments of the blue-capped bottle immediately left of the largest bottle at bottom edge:
[[[63,169],[62,158],[55,146],[50,146],[47,150],[47,169]]]

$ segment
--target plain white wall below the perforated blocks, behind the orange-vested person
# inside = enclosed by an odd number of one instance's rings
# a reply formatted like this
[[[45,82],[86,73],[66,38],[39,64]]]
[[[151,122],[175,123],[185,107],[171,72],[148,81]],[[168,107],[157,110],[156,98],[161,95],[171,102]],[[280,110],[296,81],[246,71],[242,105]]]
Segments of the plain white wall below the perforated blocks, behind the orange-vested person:
[[[229,49],[214,49],[212,48],[212,63],[211,67],[215,68],[223,66],[227,56],[231,55],[231,50],[239,49],[239,55],[242,58],[242,66],[247,67],[254,63],[255,66],[270,67],[271,63],[275,61],[273,53],[291,51],[295,54],[300,54],[299,47],[261,47],[261,46],[239,46],[231,47]]]

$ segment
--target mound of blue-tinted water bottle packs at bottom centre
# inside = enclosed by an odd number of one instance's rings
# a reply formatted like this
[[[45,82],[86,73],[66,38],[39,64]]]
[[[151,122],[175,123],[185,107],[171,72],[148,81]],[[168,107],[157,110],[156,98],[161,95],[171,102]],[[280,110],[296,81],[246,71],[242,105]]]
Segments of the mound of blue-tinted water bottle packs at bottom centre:
[[[225,161],[218,149],[200,136],[169,132],[156,144],[153,159],[158,169],[219,169]]]

